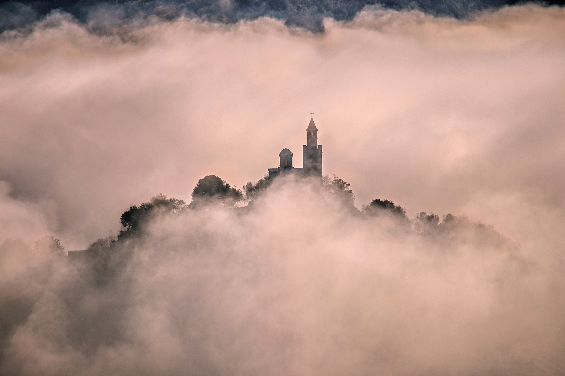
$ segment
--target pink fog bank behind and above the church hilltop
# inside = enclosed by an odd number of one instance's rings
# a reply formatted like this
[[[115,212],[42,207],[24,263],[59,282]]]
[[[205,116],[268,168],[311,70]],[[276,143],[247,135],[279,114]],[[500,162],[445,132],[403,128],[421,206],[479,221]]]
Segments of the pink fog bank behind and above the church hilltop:
[[[241,187],[285,144],[300,166],[313,110],[324,172],[351,183],[359,207],[466,213],[562,247],[564,17],[367,8],[315,35],[181,18],[98,36],[55,13],[5,32],[0,240],[53,233],[84,249],[156,193],[189,201],[207,174]]]

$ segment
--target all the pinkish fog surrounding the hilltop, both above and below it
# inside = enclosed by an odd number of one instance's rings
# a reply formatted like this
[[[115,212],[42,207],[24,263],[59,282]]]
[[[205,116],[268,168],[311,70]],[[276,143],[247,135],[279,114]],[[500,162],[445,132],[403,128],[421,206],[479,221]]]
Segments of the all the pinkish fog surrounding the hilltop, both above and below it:
[[[241,187],[285,144],[299,167],[310,111],[359,207],[466,213],[509,240],[421,236],[298,187],[158,218],[105,282],[4,250],[0,373],[562,374],[564,21],[366,8],[319,34],[185,17],[99,32],[55,12],[1,34],[0,242],[84,249],[158,192]]]

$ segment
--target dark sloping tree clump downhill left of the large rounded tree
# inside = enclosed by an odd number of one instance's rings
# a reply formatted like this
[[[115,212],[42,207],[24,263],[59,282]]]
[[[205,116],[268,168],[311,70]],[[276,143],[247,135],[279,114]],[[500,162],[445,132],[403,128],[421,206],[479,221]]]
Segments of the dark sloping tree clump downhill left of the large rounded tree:
[[[125,229],[120,231],[118,239],[123,240],[140,235],[149,219],[155,218],[157,215],[178,215],[186,211],[188,211],[186,202],[178,198],[167,198],[166,195],[159,193],[157,196],[151,197],[149,202],[144,202],[140,206],[130,206],[121,215],[120,222]]]

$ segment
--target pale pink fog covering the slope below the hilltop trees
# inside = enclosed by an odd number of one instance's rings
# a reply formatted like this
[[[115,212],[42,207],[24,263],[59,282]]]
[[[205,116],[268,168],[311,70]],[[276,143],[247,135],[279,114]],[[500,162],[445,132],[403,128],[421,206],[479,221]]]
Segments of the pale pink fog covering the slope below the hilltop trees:
[[[275,187],[252,211],[156,218],[102,283],[3,255],[0,373],[562,373],[562,270],[470,228],[395,223]]]

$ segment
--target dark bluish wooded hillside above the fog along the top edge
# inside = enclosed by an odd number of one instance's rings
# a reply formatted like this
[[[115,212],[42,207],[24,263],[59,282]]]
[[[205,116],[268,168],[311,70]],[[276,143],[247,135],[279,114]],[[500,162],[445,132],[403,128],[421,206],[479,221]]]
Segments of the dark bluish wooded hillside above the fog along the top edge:
[[[72,14],[88,22],[93,14],[112,11],[113,22],[127,23],[140,17],[155,15],[175,19],[180,15],[231,23],[241,19],[272,16],[313,31],[323,30],[321,20],[333,17],[348,20],[367,5],[380,5],[394,10],[418,9],[433,15],[468,17],[477,10],[499,8],[527,1],[516,0],[24,0],[0,2],[0,30],[23,27],[52,11]],[[540,2],[537,2],[540,3]],[[544,1],[546,5],[563,5],[563,0]]]

